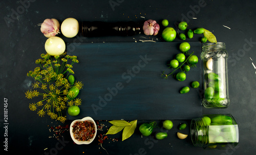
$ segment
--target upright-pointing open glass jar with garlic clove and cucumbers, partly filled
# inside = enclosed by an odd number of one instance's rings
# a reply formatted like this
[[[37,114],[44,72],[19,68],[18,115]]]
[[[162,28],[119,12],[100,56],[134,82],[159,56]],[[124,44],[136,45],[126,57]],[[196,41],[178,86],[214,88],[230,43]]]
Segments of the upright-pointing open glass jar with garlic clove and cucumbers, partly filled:
[[[225,108],[229,105],[227,58],[224,42],[205,43],[202,47],[202,103],[206,108]]]

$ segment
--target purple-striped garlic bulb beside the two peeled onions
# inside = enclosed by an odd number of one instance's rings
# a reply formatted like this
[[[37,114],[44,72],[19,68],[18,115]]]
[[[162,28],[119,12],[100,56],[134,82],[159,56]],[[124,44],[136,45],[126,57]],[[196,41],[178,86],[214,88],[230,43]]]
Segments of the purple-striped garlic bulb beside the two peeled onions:
[[[41,32],[46,36],[46,37],[53,37],[56,34],[60,33],[59,32],[59,21],[57,19],[45,19],[44,23],[41,24]]]

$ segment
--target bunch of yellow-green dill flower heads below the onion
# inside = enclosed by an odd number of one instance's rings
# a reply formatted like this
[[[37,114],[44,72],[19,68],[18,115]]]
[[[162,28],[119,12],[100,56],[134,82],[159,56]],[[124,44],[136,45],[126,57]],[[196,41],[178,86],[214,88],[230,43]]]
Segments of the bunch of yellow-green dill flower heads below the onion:
[[[25,96],[28,99],[32,99],[33,97],[42,95],[43,100],[29,104],[29,109],[36,110],[37,107],[42,106],[43,108],[37,111],[39,116],[43,117],[47,114],[52,119],[64,123],[67,119],[61,116],[61,111],[65,110],[67,105],[81,105],[81,99],[75,99],[73,101],[68,100],[67,95],[73,97],[75,93],[68,92],[71,84],[68,82],[67,78],[64,78],[63,73],[66,74],[66,72],[69,72],[74,74],[72,64],[74,62],[78,63],[79,61],[76,56],[67,55],[67,52],[59,56],[54,56],[54,60],[48,53],[41,54],[40,56],[41,59],[37,59],[35,63],[43,65],[43,68],[36,67],[34,71],[32,70],[27,73],[27,76],[33,77],[36,82],[32,84],[34,90],[28,90]],[[67,64],[68,59],[72,59],[72,64]],[[59,63],[60,61],[62,61],[62,64]],[[67,70],[57,74],[56,72],[60,67],[66,67]],[[83,84],[76,82],[75,86],[80,90]],[[37,88],[45,90],[45,93],[39,93],[36,90]]]

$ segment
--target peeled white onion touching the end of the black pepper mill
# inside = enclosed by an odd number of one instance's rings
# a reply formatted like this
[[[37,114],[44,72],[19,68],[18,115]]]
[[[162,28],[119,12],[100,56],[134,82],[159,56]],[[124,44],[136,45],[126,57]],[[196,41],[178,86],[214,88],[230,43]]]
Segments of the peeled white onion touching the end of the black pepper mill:
[[[72,38],[79,31],[79,23],[75,18],[67,18],[62,22],[60,30],[64,36]]]

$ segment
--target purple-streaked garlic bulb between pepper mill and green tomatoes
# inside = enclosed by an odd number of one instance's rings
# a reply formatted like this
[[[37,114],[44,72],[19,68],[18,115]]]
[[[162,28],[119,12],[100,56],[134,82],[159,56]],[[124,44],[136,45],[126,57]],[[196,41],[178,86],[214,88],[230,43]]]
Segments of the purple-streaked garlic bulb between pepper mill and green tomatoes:
[[[144,22],[143,31],[145,35],[157,35],[160,30],[156,20],[148,19]]]

